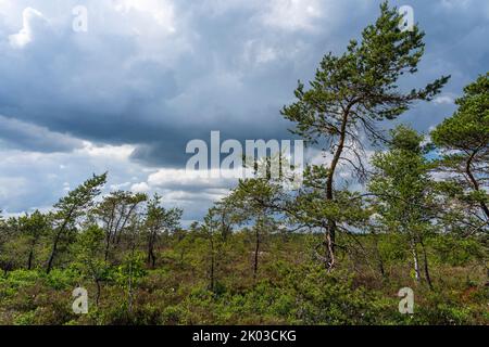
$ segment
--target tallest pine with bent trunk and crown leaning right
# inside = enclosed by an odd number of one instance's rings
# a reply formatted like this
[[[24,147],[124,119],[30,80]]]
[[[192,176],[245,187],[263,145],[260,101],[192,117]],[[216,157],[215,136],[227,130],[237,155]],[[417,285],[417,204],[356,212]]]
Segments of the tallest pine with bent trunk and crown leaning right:
[[[376,124],[394,119],[413,102],[430,100],[439,93],[449,76],[441,77],[422,89],[403,92],[398,87],[402,75],[414,74],[424,54],[424,33],[415,25],[401,30],[402,16],[387,2],[380,5],[380,16],[362,33],[360,42],[350,41],[340,56],[324,56],[310,88],[299,81],[297,101],[285,106],[285,118],[296,123],[292,132],[309,145],[324,145],[331,159],[316,170],[323,172],[319,182],[326,206],[336,198],[335,179],[341,163],[364,174],[362,138],[384,141]],[[313,184],[317,190],[317,184]],[[325,230],[324,261],[328,269],[335,265],[335,237],[339,229],[334,214],[325,214],[316,226]],[[308,221],[310,223],[310,221]]]

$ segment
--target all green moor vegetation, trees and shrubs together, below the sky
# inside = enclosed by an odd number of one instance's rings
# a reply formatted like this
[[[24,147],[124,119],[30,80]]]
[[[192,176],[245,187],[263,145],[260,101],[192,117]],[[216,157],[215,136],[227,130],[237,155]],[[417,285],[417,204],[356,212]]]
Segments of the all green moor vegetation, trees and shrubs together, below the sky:
[[[398,87],[424,53],[399,21],[384,3],[283,108],[325,153],[301,187],[265,170],[184,229],[164,196],[102,195],[103,174],[48,213],[0,219],[0,323],[488,324],[489,74],[429,136],[389,127],[449,80]],[[78,286],[87,314],[72,310]]]

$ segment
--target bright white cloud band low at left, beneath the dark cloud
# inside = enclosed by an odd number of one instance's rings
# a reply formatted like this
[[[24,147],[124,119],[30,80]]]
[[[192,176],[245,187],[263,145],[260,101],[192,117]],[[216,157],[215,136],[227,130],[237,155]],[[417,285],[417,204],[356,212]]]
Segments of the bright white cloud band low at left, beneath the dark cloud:
[[[112,155],[117,152],[114,147],[90,144],[70,153],[0,149],[0,208],[8,213],[47,208],[92,174],[109,171],[109,188],[123,187],[134,176],[142,180],[142,168],[127,155]]]

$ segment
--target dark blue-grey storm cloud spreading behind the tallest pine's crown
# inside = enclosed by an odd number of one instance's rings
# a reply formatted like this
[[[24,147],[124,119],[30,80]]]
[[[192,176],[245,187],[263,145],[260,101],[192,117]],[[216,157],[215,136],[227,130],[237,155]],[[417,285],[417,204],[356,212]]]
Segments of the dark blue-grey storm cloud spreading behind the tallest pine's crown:
[[[428,33],[424,77],[416,82],[452,73],[448,90],[460,92],[484,73],[487,13],[454,1],[410,4]],[[341,51],[378,11],[375,3],[347,2],[342,11],[334,8],[344,15],[340,22],[325,9],[312,22],[315,30],[287,30],[264,24],[260,7],[179,3],[181,33],[167,40],[185,40],[191,49],[171,66],[140,55],[137,37],[127,31],[104,31],[98,24],[76,34],[68,22],[53,27],[32,15],[30,43],[14,49],[2,37],[0,113],[95,142],[137,144],[133,158],[151,165],[181,165],[185,144],[209,138],[211,130],[236,139],[290,138],[291,125],[279,110],[297,79],[308,80],[324,53]],[[418,128],[434,123],[408,118]],[[42,151],[50,150],[47,144]]]

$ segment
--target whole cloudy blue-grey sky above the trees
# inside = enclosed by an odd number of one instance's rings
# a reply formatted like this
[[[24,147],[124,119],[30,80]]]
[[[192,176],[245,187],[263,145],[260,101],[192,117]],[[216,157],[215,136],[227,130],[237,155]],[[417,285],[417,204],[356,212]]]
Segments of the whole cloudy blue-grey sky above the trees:
[[[200,219],[234,180],[190,178],[186,144],[291,139],[280,108],[328,52],[375,21],[376,0],[0,0],[0,209],[49,209],[93,172],[159,192]],[[425,133],[489,65],[489,1],[411,5],[426,31],[415,78],[451,75],[399,121]],[[75,24],[86,9],[86,30]]]

